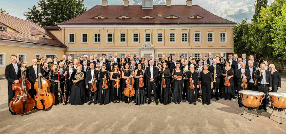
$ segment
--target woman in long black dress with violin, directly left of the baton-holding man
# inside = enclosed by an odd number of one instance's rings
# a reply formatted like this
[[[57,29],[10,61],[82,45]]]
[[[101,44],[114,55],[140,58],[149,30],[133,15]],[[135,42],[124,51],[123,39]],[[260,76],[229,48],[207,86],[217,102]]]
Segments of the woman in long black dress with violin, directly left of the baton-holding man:
[[[134,76],[134,78],[136,78],[135,92],[137,92],[135,105],[141,105],[141,104],[147,103],[146,97],[145,97],[144,86],[143,87],[139,86],[139,79],[144,78],[144,70],[141,69],[142,67],[141,63],[138,63],[137,66],[138,66],[138,69],[136,69],[134,72],[134,74],[136,74],[136,76]],[[144,83],[144,81],[142,82]]]

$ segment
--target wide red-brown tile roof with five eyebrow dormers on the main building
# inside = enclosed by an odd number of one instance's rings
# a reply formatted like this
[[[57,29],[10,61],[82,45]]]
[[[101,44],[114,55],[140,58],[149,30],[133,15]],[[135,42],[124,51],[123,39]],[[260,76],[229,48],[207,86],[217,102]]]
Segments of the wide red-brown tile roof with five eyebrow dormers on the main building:
[[[104,13],[108,19],[92,19],[94,16]],[[116,19],[120,15],[131,19]],[[152,16],[154,19],[140,19],[144,16]],[[174,15],[176,19],[164,18]],[[199,15],[203,18],[188,18],[190,15]],[[218,17],[198,5],[153,5],[153,9],[142,9],[142,5],[96,5],[81,15],[69,19],[58,25],[108,25],[108,24],[236,24],[235,22]]]

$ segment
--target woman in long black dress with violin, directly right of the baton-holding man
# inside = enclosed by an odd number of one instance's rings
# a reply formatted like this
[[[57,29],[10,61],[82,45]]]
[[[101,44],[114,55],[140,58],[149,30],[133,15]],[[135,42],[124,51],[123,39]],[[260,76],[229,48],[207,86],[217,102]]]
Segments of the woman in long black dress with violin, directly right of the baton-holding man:
[[[166,80],[166,88],[162,88],[160,85],[160,103],[167,105],[171,103],[171,85],[170,85],[170,78],[171,78],[171,71],[168,68],[167,62],[163,62],[163,70],[159,72],[163,79]],[[164,75],[163,75],[164,73]],[[162,88],[162,89],[161,89]],[[162,90],[162,92],[161,92]]]

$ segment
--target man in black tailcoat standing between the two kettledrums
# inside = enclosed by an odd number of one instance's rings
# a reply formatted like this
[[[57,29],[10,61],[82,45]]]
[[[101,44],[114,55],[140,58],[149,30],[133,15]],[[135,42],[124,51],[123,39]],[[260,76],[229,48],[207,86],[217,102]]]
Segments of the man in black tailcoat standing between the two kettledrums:
[[[272,75],[270,71],[265,70],[265,63],[260,64],[261,71],[256,71],[254,78],[258,81],[258,87],[257,91],[268,93],[272,90]],[[268,97],[266,96],[265,99],[263,99],[261,105],[259,106],[258,110],[261,110],[262,108],[267,111],[267,100]]]

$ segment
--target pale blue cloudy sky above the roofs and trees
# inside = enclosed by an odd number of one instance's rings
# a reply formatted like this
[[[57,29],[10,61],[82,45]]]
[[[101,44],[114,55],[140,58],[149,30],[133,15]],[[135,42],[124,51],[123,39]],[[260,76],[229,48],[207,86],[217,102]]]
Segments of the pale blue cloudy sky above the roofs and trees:
[[[166,0],[153,0],[154,4],[166,4]],[[37,5],[38,0],[10,0],[2,1],[0,7],[6,10],[9,15],[26,19],[23,14],[33,5]],[[172,0],[172,4],[185,4],[186,0]],[[268,4],[273,0],[268,0]],[[129,0],[132,5],[142,4],[142,0]],[[101,5],[101,0],[84,0],[84,5],[90,9],[95,5]],[[109,5],[123,5],[123,0],[108,0]],[[255,0],[192,0],[192,4],[198,4],[204,9],[223,17],[230,21],[240,22],[247,18],[248,21],[253,16]],[[3,6],[5,5],[5,6]]]

